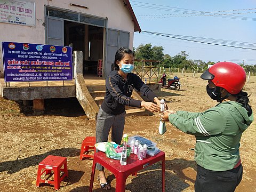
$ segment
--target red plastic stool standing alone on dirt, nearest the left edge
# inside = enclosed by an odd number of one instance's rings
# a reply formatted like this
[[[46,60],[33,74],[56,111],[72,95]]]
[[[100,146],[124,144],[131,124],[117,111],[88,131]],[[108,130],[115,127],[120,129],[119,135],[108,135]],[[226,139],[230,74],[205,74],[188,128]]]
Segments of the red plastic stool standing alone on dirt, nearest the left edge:
[[[64,169],[61,169],[63,165],[64,165]],[[52,171],[54,174],[53,181],[41,179],[41,175],[44,172],[45,174],[51,174]],[[60,171],[64,172],[61,178],[60,178]],[[50,183],[54,185],[54,189],[58,190],[60,188],[60,181],[62,181],[65,177],[68,177],[67,158],[49,155],[38,165],[36,186],[39,187],[39,184],[41,182]]]

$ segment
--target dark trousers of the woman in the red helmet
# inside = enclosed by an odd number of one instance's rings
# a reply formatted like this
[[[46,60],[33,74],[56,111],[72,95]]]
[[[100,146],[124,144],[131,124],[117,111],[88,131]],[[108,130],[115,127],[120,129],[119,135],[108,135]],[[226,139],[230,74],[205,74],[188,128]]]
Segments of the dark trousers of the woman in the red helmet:
[[[197,165],[195,192],[233,192],[242,180],[243,166],[228,171],[210,171]]]

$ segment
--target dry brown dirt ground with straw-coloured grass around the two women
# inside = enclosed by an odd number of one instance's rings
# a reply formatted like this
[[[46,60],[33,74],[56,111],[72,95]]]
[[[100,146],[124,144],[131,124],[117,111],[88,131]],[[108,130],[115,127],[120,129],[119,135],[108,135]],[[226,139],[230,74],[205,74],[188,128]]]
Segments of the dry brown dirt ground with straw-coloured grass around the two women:
[[[159,98],[165,98],[173,110],[204,111],[217,104],[205,91],[206,82],[195,77],[183,76],[180,91],[162,89]],[[250,103],[256,111],[256,81],[246,83],[245,91],[251,94]],[[21,102],[0,97],[0,191],[54,191],[53,186],[35,184],[38,163],[47,155],[65,156],[68,159],[69,177],[61,182],[59,191],[88,191],[91,159],[79,160],[82,140],[95,135],[95,122],[87,119],[76,99],[45,101],[46,114],[34,116],[31,107]],[[236,191],[256,191],[256,146],[254,121],[241,139],[243,180]],[[165,190],[194,191],[196,163],[194,162],[195,138],[182,133],[167,123],[167,132],[158,134],[159,117],[126,117],[125,133],[139,134],[157,143],[165,152]],[[107,179],[115,191],[116,180],[106,171]],[[94,191],[101,191],[94,180]],[[161,164],[157,163],[132,175],[126,180],[126,191],[161,191]]]

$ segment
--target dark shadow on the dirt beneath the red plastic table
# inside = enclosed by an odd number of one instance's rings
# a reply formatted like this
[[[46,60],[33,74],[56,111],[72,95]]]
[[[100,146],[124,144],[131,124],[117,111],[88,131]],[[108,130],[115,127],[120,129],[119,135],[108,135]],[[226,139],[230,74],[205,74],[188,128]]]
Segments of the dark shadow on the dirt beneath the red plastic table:
[[[183,170],[191,167],[195,171],[197,170],[196,163],[194,161],[187,161],[186,159],[172,159],[165,161],[165,191],[174,191],[179,192],[188,188],[190,185],[186,181],[195,182],[195,180],[188,178]],[[95,175],[97,177],[97,175]],[[115,175],[111,174],[107,177],[107,181],[111,185],[111,190],[115,191],[116,186]],[[94,181],[96,179],[94,178]],[[94,187],[95,188],[95,187]],[[76,188],[78,189],[78,188]],[[81,190],[71,190],[71,191],[82,191],[86,189],[85,187],[81,187]],[[147,167],[146,169],[138,172],[137,177],[132,176],[132,182],[128,183],[125,187],[125,190],[129,191],[141,191],[141,192],[149,192],[149,191],[162,191],[162,166],[161,163],[158,162],[154,165]],[[102,191],[100,186],[93,191]]]

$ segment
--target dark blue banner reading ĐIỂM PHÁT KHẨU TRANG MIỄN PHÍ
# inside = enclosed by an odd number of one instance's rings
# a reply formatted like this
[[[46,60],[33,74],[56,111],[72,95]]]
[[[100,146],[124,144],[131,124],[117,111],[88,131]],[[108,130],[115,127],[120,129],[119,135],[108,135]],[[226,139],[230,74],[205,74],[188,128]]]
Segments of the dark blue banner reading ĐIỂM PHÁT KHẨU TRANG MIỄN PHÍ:
[[[71,81],[72,48],[2,42],[4,81]]]

